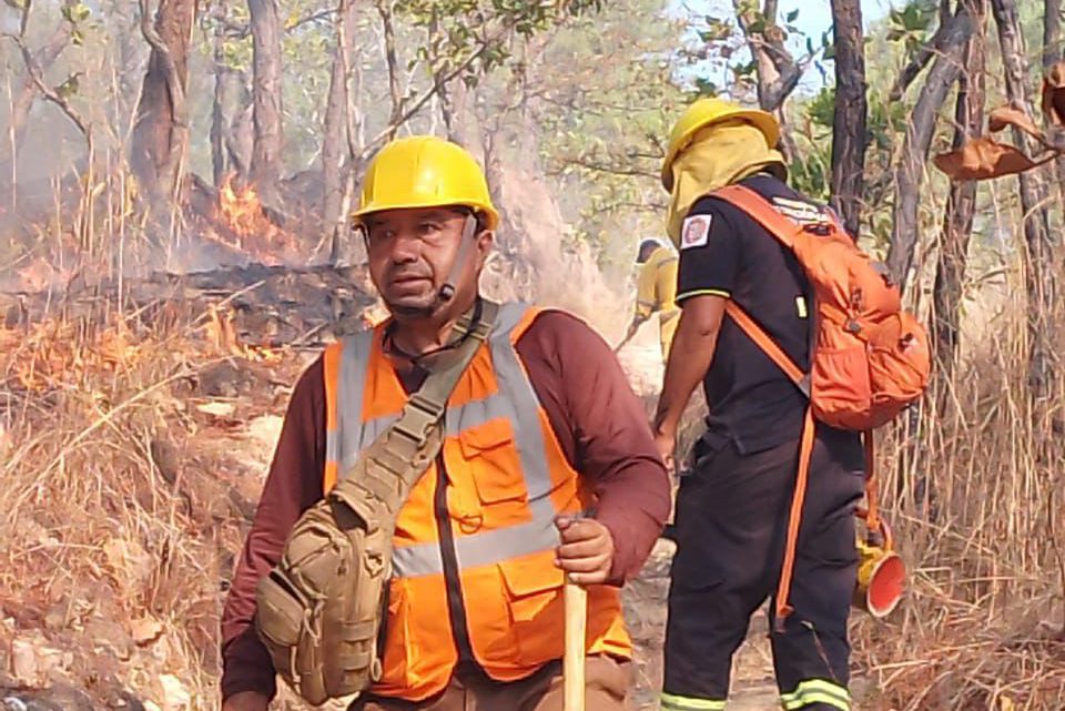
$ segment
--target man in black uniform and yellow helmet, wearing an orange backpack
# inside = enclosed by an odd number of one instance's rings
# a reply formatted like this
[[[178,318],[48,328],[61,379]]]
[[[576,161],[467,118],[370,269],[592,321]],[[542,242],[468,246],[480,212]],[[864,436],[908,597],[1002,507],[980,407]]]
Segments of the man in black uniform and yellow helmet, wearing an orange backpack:
[[[822,228],[828,209],[791,190],[768,113],[720,99],[678,120],[662,165],[667,231],[680,251],[681,318],[655,418],[659,451],[700,382],[706,430],[681,478],[669,591],[663,711],[724,709],[734,651],[750,617],[785,590],[771,641],[789,711],[849,711],[846,621],[855,580],[853,511],[863,451],[853,433],[819,425],[792,566],[785,560],[807,397],[728,313],[746,313],[803,373],[813,313],[794,254],[733,202],[742,194],[798,228]],[[789,222],[790,221],[790,222]],[[790,596],[782,581],[790,580]],[[790,603],[791,613],[788,603]]]

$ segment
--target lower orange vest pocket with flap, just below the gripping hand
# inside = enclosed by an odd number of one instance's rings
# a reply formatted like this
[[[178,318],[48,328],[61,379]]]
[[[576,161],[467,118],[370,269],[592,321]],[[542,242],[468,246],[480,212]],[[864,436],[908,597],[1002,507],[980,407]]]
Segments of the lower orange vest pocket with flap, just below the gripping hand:
[[[519,666],[558,659],[562,653],[562,571],[554,552],[499,563],[507,592]]]

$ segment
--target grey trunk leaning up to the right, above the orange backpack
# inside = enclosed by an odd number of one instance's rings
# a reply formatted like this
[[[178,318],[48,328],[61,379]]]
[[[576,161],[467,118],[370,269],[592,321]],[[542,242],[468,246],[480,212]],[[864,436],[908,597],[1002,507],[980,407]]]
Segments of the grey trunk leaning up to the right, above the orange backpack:
[[[910,281],[913,253],[917,246],[921,183],[935,132],[936,115],[962,72],[962,54],[972,32],[973,18],[966,8],[958,8],[944,32],[941,53],[925,77],[906,123],[906,135],[894,170],[894,227],[888,250],[888,266],[903,288]]]

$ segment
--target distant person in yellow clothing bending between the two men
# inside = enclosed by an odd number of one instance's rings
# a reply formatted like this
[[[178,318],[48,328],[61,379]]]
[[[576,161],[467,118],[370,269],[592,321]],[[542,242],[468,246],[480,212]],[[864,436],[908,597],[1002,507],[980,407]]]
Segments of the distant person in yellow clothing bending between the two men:
[[[640,243],[636,263],[641,265],[636,288],[636,315],[625,336],[628,342],[637,329],[658,312],[662,362],[669,359],[669,347],[680,323],[677,306],[677,251],[665,240],[649,237]]]

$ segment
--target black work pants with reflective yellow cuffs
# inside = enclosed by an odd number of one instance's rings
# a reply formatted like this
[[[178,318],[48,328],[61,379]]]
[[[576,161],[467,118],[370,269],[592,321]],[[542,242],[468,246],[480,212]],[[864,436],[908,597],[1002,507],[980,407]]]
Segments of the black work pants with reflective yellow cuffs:
[[[773,598],[783,562],[799,441],[752,455],[731,445],[681,479],[666,630],[663,711],[724,708],[732,654]],[[864,488],[858,435],[819,427],[795,553],[794,612],[770,639],[788,711],[848,711],[846,621],[855,585],[854,507]]]

